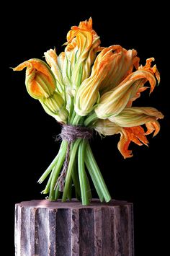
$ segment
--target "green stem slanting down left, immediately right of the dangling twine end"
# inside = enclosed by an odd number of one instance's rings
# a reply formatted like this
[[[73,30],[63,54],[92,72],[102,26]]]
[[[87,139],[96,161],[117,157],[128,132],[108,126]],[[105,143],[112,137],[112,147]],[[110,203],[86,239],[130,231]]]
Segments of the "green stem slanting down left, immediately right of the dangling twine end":
[[[73,168],[73,162],[75,161],[76,151],[79,147],[80,141],[81,141],[81,138],[78,138],[73,143],[73,149],[71,150],[70,160],[69,160],[67,174],[66,174],[66,182],[65,182],[64,190],[63,190],[62,202],[66,201],[66,198],[68,195],[68,189],[69,189],[70,180],[71,180],[71,172],[72,172],[72,168]]]

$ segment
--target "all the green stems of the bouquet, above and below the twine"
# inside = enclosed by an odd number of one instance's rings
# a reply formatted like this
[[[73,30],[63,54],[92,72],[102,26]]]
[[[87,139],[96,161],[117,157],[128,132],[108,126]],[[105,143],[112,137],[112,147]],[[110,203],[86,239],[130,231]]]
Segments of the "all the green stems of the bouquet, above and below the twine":
[[[95,119],[96,115],[94,114],[90,115],[89,118],[84,120],[84,117],[76,115],[73,110],[70,124],[84,125],[88,127],[92,125]],[[55,185],[58,177],[60,176],[63,163],[66,158],[67,145],[67,141],[62,141],[58,155],[55,156],[53,162],[40,177],[40,180],[38,180],[38,182],[42,183],[45,178],[50,175],[45,190],[42,191],[43,194],[49,193],[49,200],[58,200],[58,198],[61,197],[59,185],[57,185],[57,187],[55,187]],[[76,141],[71,144],[70,158],[66,172],[62,201],[65,202],[67,199],[71,200],[71,190],[72,187],[75,187],[76,198],[81,200],[84,206],[89,205],[92,196],[89,178],[86,171],[89,172],[89,176],[91,177],[94,187],[97,190],[100,201],[109,202],[109,200],[111,200],[111,196],[109,195],[107,186],[91,151],[89,141],[82,138],[77,138]]]

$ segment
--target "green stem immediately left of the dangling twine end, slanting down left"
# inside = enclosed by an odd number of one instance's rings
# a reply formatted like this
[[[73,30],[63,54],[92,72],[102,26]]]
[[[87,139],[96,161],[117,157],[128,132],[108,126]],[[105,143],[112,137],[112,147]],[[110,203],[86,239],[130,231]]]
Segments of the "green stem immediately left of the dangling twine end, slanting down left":
[[[50,195],[49,195],[50,200],[54,200],[54,198],[55,198],[54,187],[55,187],[58,176],[61,172],[61,167],[63,166],[63,162],[64,162],[65,157],[66,157],[67,144],[68,144],[67,141],[63,141],[63,149],[61,151],[60,157],[58,158],[58,162],[55,165],[53,177],[52,177],[51,184],[50,184]]]

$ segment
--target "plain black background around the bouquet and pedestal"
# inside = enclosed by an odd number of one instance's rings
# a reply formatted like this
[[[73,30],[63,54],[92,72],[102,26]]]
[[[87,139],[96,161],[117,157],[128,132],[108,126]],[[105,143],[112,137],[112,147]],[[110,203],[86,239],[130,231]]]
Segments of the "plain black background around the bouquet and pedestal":
[[[161,84],[149,96],[144,92],[135,102],[138,106],[156,107],[164,113],[158,136],[149,136],[149,148],[133,143],[134,156],[123,159],[117,150],[119,136],[99,136],[91,147],[102,170],[112,198],[134,204],[135,256],[166,255],[164,227],[169,200],[169,42],[167,6],[134,4],[69,2],[63,4],[10,4],[4,8],[1,21],[1,115],[4,117],[1,141],[5,141],[1,167],[2,222],[6,218],[5,255],[14,255],[14,203],[43,198],[45,186],[37,180],[58,151],[54,137],[60,125],[45,114],[24,86],[24,71],[13,72],[29,58],[41,58],[50,49],[60,53],[71,25],[93,19],[94,30],[100,35],[102,46],[120,44],[138,50],[140,63],[154,57],[161,73]],[[1,69],[1,70],[3,70]],[[4,90],[4,92],[3,92]],[[95,196],[95,193],[94,193]],[[5,209],[5,210],[4,210]]]

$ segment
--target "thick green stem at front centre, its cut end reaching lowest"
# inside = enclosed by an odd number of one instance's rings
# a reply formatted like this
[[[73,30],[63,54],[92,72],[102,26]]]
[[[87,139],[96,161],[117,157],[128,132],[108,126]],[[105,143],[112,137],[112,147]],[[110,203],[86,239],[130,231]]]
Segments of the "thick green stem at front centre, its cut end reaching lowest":
[[[78,169],[79,169],[79,181],[81,188],[81,200],[83,206],[89,205],[89,196],[88,196],[88,182],[86,179],[86,171],[84,167],[84,152],[85,152],[86,143],[81,141],[78,151]]]

